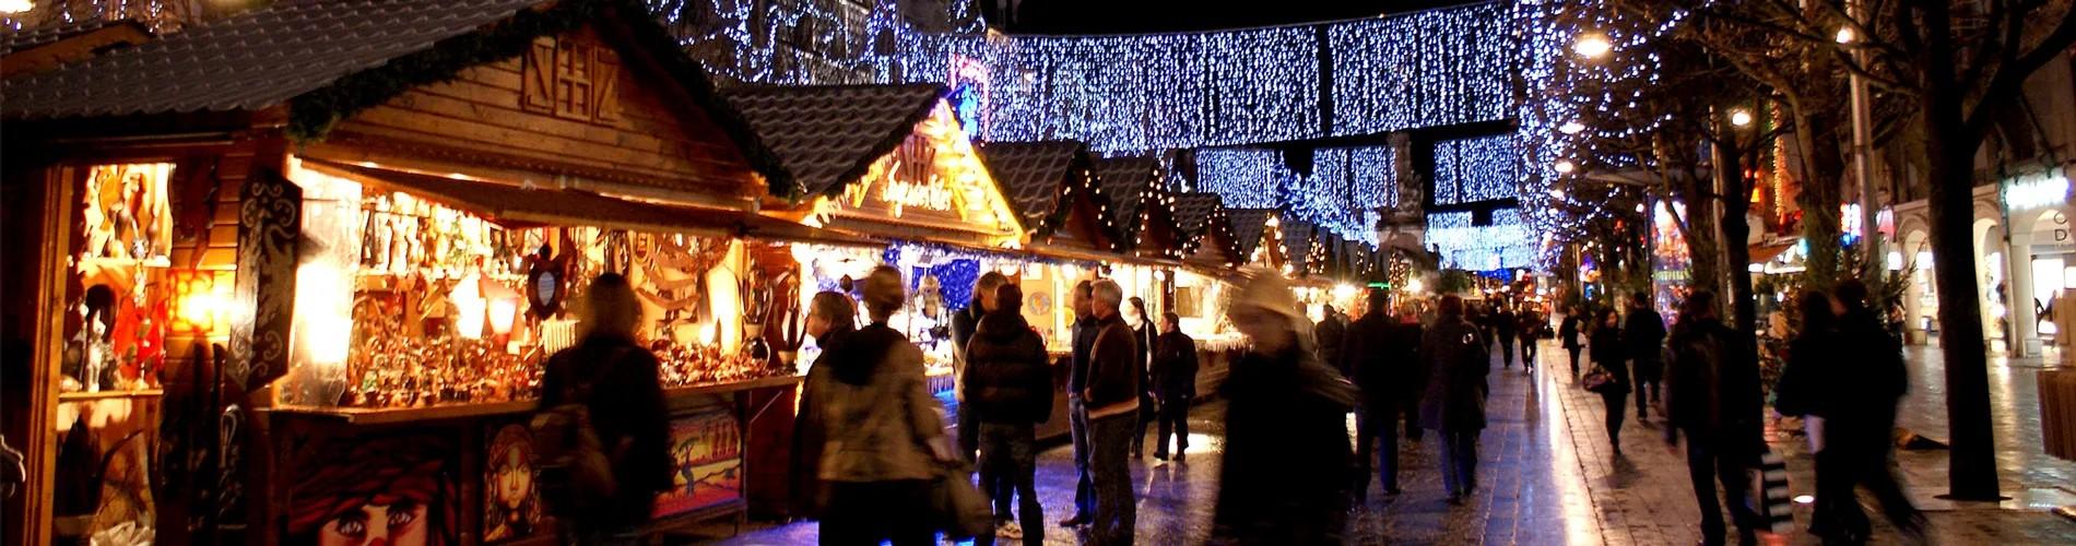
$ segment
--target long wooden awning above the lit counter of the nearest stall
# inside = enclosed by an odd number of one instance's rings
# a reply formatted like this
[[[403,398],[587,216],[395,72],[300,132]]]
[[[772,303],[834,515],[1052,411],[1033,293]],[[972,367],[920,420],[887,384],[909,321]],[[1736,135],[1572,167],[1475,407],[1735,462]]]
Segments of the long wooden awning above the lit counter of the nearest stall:
[[[349,176],[374,187],[413,193],[428,201],[438,201],[457,210],[482,214],[502,226],[600,226],[650,233],[687,233],[706,237],[747,237],[768,241],[801,241],[824,245],[884,247],[884,241],[822,230],[766,218],[741,210],[685,208],[668,203],[633,201],[571,189],[531,189],[517,185],[482,183],[467,179],[434,176],[424,172],[374,168],[324,160],[303,160],[313,168],[334,176]]]

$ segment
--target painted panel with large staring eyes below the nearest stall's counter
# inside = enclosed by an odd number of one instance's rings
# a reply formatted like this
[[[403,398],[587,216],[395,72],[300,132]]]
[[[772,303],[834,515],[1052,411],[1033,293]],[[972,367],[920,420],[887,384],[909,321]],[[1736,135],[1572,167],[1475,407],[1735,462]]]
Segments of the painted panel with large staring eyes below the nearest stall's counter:
[[[295,465],[284,544],[459,544],[455,438],[332,438],[307,453]]]

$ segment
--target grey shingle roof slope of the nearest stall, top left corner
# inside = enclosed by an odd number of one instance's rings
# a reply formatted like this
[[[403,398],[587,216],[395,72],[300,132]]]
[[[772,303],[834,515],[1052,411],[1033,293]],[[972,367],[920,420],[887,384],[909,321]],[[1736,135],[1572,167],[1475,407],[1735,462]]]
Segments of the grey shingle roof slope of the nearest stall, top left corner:
[[[8,118],[255,110],[542,0],[282,0],[0,83]]]

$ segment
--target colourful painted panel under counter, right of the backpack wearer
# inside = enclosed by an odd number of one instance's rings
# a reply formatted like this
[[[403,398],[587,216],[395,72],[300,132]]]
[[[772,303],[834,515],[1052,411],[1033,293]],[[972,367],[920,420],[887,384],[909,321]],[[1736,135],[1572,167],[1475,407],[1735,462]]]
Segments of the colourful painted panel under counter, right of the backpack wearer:
[[[743,430],[727,409],[671,419],[671,488],[656,517],[743,498]]]

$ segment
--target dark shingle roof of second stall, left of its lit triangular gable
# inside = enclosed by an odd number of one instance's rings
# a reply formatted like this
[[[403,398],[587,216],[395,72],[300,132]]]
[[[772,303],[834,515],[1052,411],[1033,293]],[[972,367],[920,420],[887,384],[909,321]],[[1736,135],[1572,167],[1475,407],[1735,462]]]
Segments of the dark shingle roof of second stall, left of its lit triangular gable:
[[[808,195],[832,195],[901,147],[945,98],[945,87],[758,85],[722,95]]]

